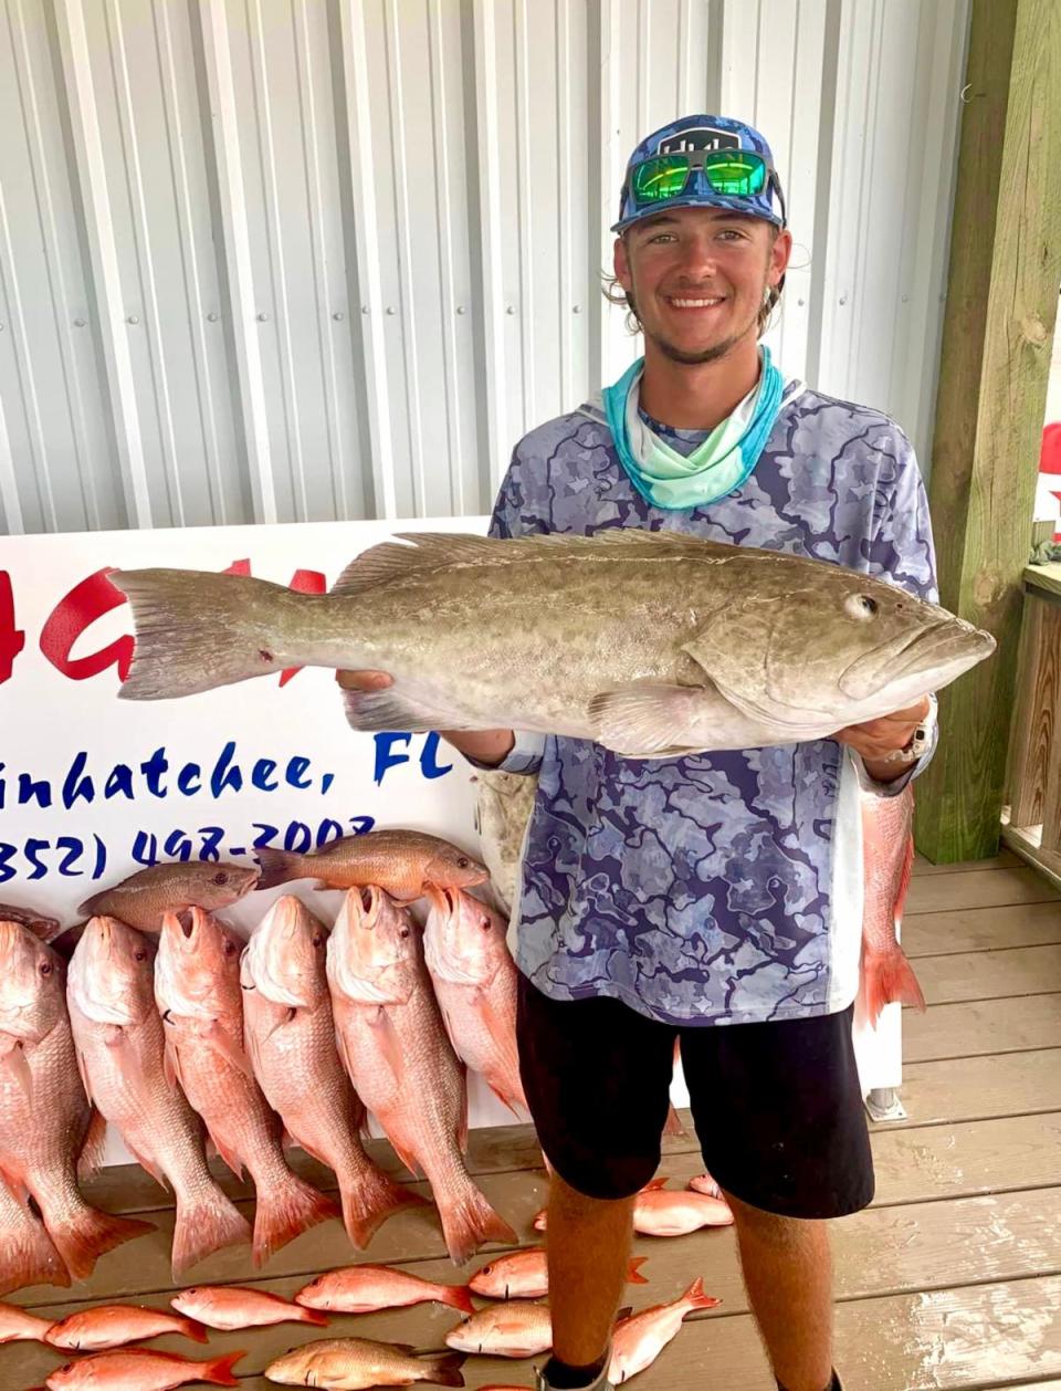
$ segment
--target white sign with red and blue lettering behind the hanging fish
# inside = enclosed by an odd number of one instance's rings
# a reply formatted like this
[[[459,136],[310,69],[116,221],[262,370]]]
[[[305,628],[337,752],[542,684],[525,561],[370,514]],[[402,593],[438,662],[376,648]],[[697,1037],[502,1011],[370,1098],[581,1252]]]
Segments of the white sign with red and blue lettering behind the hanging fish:
[[[108,569],[225,570],[330,588],[396,531],[485,531],[485,519],[111,531],[0,540],[0,903],[70,925],[79,904],[164,860],[253,865],[405,826],[478,854],[473,769],[437,734],[363,734],[334,672],[305,669],[172,701],[118,700],[132,651]],[[327,922],[337,892],[295,892]],[[221,912],[245,935],[286,886]],[[512,1113],[469,1077],[471,1124]],[[377,1131],[378,1134],[378,1131]],[[125,1163],[108,1136],[107,1161]]]

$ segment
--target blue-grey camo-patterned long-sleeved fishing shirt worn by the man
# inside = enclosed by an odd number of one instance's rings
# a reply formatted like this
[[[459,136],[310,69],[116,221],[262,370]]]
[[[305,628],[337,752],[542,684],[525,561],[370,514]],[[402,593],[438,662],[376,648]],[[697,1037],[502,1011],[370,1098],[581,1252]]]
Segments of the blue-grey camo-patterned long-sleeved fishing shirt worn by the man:
[[[702,438],[649,424],[686,452]],[[592,405],[519,442],[492,536],[620,526],[813,556],[937,598],[902,430],[801,383],[786,385],[747,483],[691,510],[641,497]],[[519,734],[502,768],[540,773],[513,924],[519,968],[545,995],[612,996],[676,1025],[829,1014],[854,999],[868,780],[834,740],[623,759]]]

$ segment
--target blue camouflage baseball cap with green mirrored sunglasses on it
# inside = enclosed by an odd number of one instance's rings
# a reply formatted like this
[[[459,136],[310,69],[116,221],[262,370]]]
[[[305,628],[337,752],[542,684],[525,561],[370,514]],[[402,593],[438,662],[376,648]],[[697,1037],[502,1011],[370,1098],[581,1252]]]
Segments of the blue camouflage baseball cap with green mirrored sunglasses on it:
[[[758,175],[744,181],[744,186],[750,192],[733,191],[741,181],[719,177],[715,172],[711,175],[715,184],[720,184],[723,188],[729,185],[729,188],[719,192],[718,186],[712,186],[708,171],[702,167],[704,154],[701,152],[722,152],[723,156],[726,152],[733,152],[734,164],[750,164]],[[737,156],[741,152],[758,156],[758,159],[740,161]],[[679,156],[679,159],[667,159],[670,156]],[[690,156],[690,167],[684,178],[680,156]],[[676,174],[667,171],[667,166],[674,164],[679,166]],[[720,172],[726,175],[724,159],[722,166]],[[659,175],[661,170],[665,171],[662,175]],[[651,186],[651,198],[641,196],[638,185],[641,191],[648,191]],[[674,191],[669,192],[672,188]],[[775,207],[775,195],[777,207]],[[612,227],[612,231],[623,232],[631,223],[637,223],[642,217],[652,217],[665,207],[727,207],[734,213],[762,217],[776,227],[786,224],[784,195],[773,167],[770,146],[752,127],[727,115],[683,115],[681,120],[661,127],[641,140],[626,166],[626,178],[619,200],[619,221]]]

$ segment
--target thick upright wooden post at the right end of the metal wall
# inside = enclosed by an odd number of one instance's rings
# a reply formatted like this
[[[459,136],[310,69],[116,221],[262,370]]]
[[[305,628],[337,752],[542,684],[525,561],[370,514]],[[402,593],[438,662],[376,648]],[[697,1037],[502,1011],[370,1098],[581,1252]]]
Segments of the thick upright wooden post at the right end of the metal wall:
[[[998,651],[940,696],[918,849],[996,853],[1061,282],[1061,0],[973,0],[929,501],[943,604]]]

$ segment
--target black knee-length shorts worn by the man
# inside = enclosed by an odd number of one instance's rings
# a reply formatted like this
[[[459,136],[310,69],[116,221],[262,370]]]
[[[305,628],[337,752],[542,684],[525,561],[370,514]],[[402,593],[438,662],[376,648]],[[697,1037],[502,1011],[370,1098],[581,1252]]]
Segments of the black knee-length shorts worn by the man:
[[[680,1038],[704,1163],[723,1189],[786,1217],[859,1212],[873,1159],[852,1008],[677,1029],[619,1000],[551,1000],[520,975],[520,1074],[541,1146],[577,1192],[635,1193],[659,1167]]]

